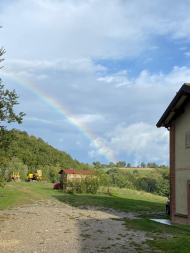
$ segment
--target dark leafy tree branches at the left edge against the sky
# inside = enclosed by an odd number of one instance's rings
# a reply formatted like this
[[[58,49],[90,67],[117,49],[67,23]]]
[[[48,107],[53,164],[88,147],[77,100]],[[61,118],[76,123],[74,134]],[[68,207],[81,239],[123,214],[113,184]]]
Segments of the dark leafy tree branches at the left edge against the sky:
[[[1,28],[1,27],[0,27]],[[5,49],[2,47],[0,49],[0,62],[4,59],[1,58],[2,55],[5,53]],[[0,67],[1,69],[2,67]],[[2,121],[7,123],[11,122],[18,122],[19,124],[22,123],[22,119],[25,116],[25,113],[20,112],[18,115],[13,111],[14,105],[18,105],[17,96],[15,90],[9,91],[4,90],[4,85],[2,84],[2,80],[0,78],[0,124]],[[0,126],[4,128],[4,126]]]

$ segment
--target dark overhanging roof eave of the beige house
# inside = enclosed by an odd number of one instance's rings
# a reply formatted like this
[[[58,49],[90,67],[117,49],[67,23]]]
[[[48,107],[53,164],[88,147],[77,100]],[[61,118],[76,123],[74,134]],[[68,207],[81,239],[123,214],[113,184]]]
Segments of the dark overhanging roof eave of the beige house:
[[[168,108],[156,124],[157,127],[170,127],[170,124],[181,113],[184,112],[184,108],[190,101],[190,83],[184,83],[181,89],[177,92]]]

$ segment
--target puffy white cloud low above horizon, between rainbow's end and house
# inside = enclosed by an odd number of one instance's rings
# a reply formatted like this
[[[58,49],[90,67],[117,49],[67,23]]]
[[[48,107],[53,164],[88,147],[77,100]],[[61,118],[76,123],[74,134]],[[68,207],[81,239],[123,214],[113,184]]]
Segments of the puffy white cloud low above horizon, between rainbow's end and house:
[[[129,126],[119,124],[107,133],[107,137],[109,139],[97,139],[101,150],[106,154],[133,155],[134,163],[143,159],[163,162],[169,158],[169,132],[166,129],[157,129],[154,125],[144,122]],[[95,150],[91,150],[89,154],[97,155]]]

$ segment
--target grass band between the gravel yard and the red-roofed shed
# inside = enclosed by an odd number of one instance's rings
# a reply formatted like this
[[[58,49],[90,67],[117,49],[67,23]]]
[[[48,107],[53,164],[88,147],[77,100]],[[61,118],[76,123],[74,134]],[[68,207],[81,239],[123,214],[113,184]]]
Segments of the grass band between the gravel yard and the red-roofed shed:
[[[105,189],[106,191],[106,189]],[[166,198],[130,189],[111,188],[111,195],[107,194],[62,194],[53,190],[53,184],[38,183],[7,183],[0,188],[0,209],[19,204],[28,204],[38,199],[57,198],[71,205],[93,205],[115,208],[123,211],[162,211]]]

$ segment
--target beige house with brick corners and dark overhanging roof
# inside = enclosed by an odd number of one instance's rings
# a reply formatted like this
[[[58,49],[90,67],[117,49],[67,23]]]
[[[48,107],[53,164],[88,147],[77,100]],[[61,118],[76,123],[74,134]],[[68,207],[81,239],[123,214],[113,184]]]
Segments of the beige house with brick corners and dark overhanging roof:
[[[157,127],[170,131],[170,220],[190,224],[190,83],[184,83]]]

